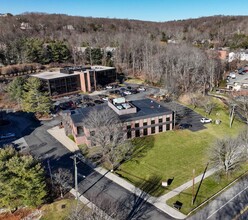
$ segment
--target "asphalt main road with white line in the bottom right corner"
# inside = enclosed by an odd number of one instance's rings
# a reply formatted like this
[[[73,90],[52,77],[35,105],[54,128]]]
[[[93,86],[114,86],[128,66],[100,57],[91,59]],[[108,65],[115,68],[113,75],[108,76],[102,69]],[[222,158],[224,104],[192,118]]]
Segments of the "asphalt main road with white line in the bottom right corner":
[[[248,219],[247,212],[240,215],[248,205],[248,177],[223,192],[188,220]]]

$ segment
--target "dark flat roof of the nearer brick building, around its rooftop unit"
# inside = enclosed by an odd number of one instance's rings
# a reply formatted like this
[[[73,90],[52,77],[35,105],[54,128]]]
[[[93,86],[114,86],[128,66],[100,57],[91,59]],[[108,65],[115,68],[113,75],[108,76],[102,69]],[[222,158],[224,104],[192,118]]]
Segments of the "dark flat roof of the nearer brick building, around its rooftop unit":
[[[120,121],[122,122],[134,121],[134,120],[145,119],[145,118],[152,118],[152,117],[162,116],[165,114],[172,113],[172,110],[148,98],[130,101],[130,103],[137,108],[136,113],[118,115],[113,109],[111,109],[105,103],[103,105],[98,105],[98,106],[93,106],[93,107],[79,108],[76,110],[75,114],[71,115],[71,119],[76,126],[83,125],[83,121],[85,120],[85,118],[87,117],[90,111],[92,111],[93,109],[100,110],[104,107],[109,108],[109,111],[112,111],[113,114],[116,114],[119,117]]]

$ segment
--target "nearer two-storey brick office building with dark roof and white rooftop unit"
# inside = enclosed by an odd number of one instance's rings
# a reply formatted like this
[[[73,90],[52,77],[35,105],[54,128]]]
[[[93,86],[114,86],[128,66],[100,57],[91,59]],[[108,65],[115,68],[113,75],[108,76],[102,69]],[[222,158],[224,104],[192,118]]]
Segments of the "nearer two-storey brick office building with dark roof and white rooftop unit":
[[[91,146],[91,136],[97,135],[98,128],[87,126],[90,112],[107,108],[109,115],[117,115],[127,139],[157,134],[172,129],[173,114],[170,109],[151,99],[127,101],[125,98],[110,99],[108,104],[80,108],[74,114],[64,114],[67,135],[71,134],[77,144]],[[106,119],[107,120],[107,119]],[[106,126],[106,124],[105,124]],[[116,125],[117,126],[117,125]],[[111,134],[110,134],[111,135]]]

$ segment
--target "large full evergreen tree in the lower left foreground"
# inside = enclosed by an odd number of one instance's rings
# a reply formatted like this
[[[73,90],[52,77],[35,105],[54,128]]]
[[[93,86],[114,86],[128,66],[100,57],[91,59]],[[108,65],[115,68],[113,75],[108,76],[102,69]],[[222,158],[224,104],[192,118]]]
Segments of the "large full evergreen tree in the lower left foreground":
[[[0,149],[0,207],[36,207],[46,196],[44,170],[32,156],[21,156],[12,146]]]

